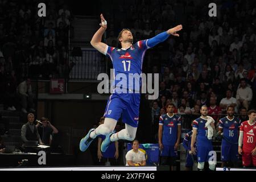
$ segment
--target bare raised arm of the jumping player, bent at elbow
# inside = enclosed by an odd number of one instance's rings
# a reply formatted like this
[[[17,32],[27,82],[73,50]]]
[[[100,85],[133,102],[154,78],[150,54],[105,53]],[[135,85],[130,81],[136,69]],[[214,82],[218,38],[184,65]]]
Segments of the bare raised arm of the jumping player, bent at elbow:
[[[92,47],[94,47],[95,49],[97,49],[101,53],[105,54],[106,48],[108,46],[105,43],[102,43],[101,39],[102,39],[102,35],[106,31],[107,23],[106,23],[106,20],[105,20],[105,18],[102,14],[101,14],[100,26],[101,27],[98,29],[98,31],[93,35],[92,40],[90,40],[90,44],[92,45]]]

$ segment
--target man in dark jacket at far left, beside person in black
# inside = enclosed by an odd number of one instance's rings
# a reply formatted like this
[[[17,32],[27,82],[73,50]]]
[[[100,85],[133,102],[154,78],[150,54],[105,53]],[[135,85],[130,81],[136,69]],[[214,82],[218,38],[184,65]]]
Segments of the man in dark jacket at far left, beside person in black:
[[[27,115],[27,123],[22,126],[21,129],[21,138],[22,138],[22,146],[25,146],[28,141],[38,141],[39,144],[43,144],[40,135],[38,133],[38,129],[34,124],[34,114],[28,113]]]

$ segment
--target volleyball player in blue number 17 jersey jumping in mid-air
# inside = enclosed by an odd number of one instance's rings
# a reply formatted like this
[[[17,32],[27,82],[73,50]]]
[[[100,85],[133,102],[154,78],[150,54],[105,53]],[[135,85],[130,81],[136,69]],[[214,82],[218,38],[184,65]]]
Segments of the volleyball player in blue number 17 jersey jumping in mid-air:
[[[101,42],[102,35],[107,28],[107,22],[102,14],[100,26],[100,29],[93,35],[90,44],[104,55],[109,56],[112,60],[115,78],[114,92],[109,97],[109,101],[105,109],[104,124],[98,126],[97,129],[90,129],[88,134],[81,139],[81,151],[85,151],[92,140],[98,135],[106,135],[106,138],[101,144],[102,152],[105,152],[110,142],[114,142],[115,140],[134,140],[138,127],[139,102],[141,98],[141,94],[138,92],[141,87],[141,80],[139,76],[142,73],[142,63],[145,52],[148,48],[154,47],[156,44],[166,40],[170,35],[179,36],[176,32],[182,29],[182,26],[179,25],[156,35],[154,38],[140,40],[135,44],[133,44],[133,35],[131,34],[131,31],[129,29],[123,29],[118,35],[118,42],[121,44],[121,48],[115,48]],[[138,75],[138,77],[134,76],[130,78],[129,73],[137,73],[136,75]],[[121,86],[118,86],[119,83],[116,79],[118,74],[122,74],[122,79],[125,79],[129,88],[128,86],[125,87],[123,85],[122,88]],[[125,75],[126,78],[123,78],[123,75]],[[139,85],[139,88],[135,88],[136,84],[133,83],[133,78],[135,78],[134,80]],[[131,81],[129,81],[129,79]],[[120,89],[122,89],[122,93],[118,92]],[[126,92],[123,92],[124,89]],[[115,125],[117,125],[117,120],[121,117],[121,114],[122,121],[125,123],[125,129],[118,133],[114,133]]]

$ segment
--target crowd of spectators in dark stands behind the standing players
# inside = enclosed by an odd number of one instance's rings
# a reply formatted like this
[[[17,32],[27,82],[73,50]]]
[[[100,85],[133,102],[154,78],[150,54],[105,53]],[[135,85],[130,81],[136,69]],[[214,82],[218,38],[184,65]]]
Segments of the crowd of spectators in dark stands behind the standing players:
[[[159,73],[159,98],[151,101],[154,127],[170,102],[176,113],[191,117],[200,114],[201,105],[209,114],[225,114],[228,105],[236,114],[255,108],[256,3],[215,3],[217,17],[209,17],[207,2],[183,0],[123,2],[108,14],[106,42],[114,47],[123,27],[130,28],[135,43],[183,24],[178,38],[170,36],[144,57],[143,72]]]

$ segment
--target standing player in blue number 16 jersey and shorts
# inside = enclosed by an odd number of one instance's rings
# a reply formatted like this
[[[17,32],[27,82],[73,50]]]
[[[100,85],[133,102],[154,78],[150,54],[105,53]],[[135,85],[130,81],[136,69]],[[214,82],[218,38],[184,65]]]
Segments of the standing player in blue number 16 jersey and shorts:
[[[221,161],[222,167],[238,167],[238,133],[241,120],[234,117],[234,106],[228,106],[228,114],[218,122],[218,135],[222,135]],[[228,164],[232,162],[233,165]]]

